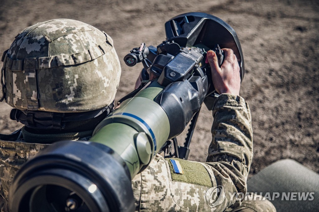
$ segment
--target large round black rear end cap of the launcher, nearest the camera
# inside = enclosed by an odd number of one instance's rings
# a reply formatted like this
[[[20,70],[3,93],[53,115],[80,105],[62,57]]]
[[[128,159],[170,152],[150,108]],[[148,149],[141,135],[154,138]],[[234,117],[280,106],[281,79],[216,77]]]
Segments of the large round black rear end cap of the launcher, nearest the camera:
[[[56,142],[27,162],[10,187],[9,208],[11,212],[64,211],[72,192],[84,202],[75,212],[134,210],[130,173],[123,159],[105,145],[80,141]]]

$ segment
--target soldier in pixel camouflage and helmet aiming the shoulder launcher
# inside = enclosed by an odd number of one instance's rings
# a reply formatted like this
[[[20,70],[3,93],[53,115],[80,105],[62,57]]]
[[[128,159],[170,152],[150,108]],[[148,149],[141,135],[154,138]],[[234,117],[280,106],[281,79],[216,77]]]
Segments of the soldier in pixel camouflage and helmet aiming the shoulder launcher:
[[[132,180],[137,211],[275,211],[268,201],[250,207],[249,201],[241,204],[241,196],[229,196],[246,193],[253,154],[250,111],[239,96],[238,62],[232,50],[224,52],[221,68],[216,54],[207,54],[221,95],[213,107],[206,163],[156,155]],[[10,135],[0,134],[0,208],[8,211],[9,187],[27,160],[59,140],[88,140],[113,110],[121,67],[105,32],[69,19],[26,28],[2,61],[1,101],[14,108],[11,119],[25,125]]]

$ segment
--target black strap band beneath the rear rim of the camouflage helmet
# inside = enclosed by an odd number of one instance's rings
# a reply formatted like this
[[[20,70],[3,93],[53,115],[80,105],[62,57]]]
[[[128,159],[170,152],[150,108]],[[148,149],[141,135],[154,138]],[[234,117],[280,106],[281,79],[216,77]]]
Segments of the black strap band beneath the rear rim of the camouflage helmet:
[[[81,122],[90,119],[100,119],[101,115],[104,115],[104,117],[106,117],[113,110],[113,108],[114,101],[104,108],[80,113],[56,113],[12,109],[10,112],[10,118],[26,125],[26,127],[30,129],[63,130],[68,125],[74,125],[76,123],[80,124]]]

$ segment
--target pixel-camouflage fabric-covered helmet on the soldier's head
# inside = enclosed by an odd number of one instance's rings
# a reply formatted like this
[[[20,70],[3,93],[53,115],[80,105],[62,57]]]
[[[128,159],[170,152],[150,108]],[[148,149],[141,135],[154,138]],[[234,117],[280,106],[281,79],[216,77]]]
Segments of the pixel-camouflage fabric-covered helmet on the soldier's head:
[[[2,61],[3,98],[19,110],[68,113],[103,108],[113,102],[121,75],[113,40],[70,19],[26,28]]]

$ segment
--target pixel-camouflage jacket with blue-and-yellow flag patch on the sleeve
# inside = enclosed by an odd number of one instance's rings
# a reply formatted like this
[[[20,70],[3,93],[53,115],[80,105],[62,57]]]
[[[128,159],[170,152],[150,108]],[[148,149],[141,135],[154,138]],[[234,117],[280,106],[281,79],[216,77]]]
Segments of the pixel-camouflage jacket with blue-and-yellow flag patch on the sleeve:
[[[213,117],[205,163],[156,155],[132,180],[137,211],[231,211],[240,206],[240,198],[229,194],[247,190],[253,156],[250,110],[240,96],[223,94],[214,103]],[[0,196],[5,199],[0,206],[7,205],[8,189],[19,167],[46,145],[0,140]]]

